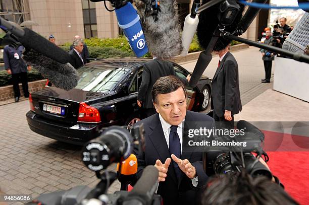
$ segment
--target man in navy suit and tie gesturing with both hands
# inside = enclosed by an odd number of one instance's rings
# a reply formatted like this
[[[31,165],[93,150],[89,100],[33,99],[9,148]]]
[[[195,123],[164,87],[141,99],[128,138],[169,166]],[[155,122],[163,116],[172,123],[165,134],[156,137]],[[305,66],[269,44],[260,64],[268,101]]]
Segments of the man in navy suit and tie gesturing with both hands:
[[[160,182],[157,194],[164,204],[194,204],[199,187],[205,185],[208,176],[202,168],[202,153],[183,151],[183,131],[188,129],[183,122],[202,121],[209,124],[206,128],[212,128],[215,121],[205,113],[186,110],[186,89],[177,77],[160,78],[151,94],[158,113],[136,123],[143,123],[145,129],[145,150],[134,151],[138,164],[136,180],[147,165],[155,165]]]

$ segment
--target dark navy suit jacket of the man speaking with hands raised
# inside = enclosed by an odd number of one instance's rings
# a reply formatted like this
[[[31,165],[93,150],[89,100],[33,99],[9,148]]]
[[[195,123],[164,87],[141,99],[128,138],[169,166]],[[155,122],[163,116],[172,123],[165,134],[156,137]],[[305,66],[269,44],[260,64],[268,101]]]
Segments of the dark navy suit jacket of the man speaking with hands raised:
[[[187,111],[185,121],[209,121],[212,127],[215,126],[214,119],[204,113]],[[138,165],[136,180],[141,176],[143,169],[147,165],[155,165],[157,159],[164,163],[167,158],[171,158],[159,114],[157,113],[147,117],[137,122],[136,125],[141,123],[144,124],[146,146],[145,151],[142,153],[138,153],[136,150],[134,151]],[[211,126],[207,128],[211,128]],[[197,199],[196,193],[198,189],[207,182],[208,176],[203,172],[201,152],[182,152],[181,159],[188,159],[196,168],[198,185],[194,187],[191,179],[183,172],[181,172],[182,176],[178,181],[171,162],[166,180],[160,182],[157,191],[163,197],[164,204],[194,204],[194,201]]]

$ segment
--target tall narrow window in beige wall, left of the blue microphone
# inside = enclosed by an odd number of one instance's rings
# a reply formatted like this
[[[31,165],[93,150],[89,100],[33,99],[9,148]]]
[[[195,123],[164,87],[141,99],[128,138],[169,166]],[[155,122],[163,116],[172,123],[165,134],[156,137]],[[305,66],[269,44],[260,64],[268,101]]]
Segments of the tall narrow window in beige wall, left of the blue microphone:
[[[97,37],[95,3],[81,0],[83,8],[85,38]]]

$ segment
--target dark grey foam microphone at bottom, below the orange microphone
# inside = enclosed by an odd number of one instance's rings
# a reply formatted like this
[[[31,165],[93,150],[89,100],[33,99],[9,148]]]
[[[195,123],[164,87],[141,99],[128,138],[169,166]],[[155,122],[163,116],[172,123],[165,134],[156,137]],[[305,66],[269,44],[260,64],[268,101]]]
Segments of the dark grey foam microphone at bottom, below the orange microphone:
[[[133,204],[133,202],[135,204],[149,204],[158,187],[158,176],[158,169],[155,166],[148,165],[128,194],[124,204]]]

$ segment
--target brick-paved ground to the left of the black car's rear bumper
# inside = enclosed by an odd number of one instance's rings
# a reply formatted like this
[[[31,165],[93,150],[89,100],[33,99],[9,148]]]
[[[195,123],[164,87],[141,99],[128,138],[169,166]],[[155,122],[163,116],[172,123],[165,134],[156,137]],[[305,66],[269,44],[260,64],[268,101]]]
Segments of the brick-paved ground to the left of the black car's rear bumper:
[[[81,162],[81,147],[60,143],[28,127],[29,102],[0,107],[0,187],[7,194],[31,194],[94,186],[95,173]],[[109,169],[114,169],[111,166]],[[114,192],[119,185],[111,187]]]

